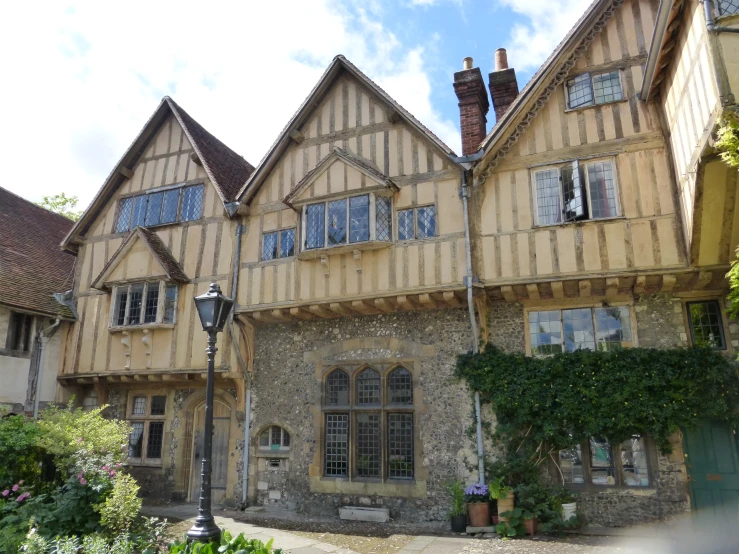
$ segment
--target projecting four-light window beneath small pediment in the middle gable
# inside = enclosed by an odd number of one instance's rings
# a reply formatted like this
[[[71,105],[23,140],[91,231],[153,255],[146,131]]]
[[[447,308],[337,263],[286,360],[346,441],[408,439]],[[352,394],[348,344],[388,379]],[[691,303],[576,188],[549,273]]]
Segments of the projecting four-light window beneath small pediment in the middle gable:
[[[392,240],[392,200],[375,193],[303,207],[303,250]]]

